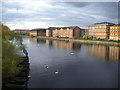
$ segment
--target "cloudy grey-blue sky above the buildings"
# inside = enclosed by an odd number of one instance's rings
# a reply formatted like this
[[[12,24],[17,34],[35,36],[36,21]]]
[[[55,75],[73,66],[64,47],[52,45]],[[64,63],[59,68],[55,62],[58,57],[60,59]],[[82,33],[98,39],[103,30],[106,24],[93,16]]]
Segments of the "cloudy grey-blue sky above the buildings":
[[[118,23],[117,2],[50,2],[3,0],[2,22],[10,29]]]

